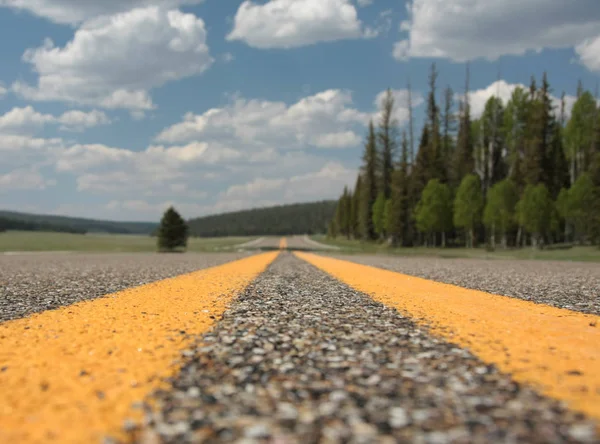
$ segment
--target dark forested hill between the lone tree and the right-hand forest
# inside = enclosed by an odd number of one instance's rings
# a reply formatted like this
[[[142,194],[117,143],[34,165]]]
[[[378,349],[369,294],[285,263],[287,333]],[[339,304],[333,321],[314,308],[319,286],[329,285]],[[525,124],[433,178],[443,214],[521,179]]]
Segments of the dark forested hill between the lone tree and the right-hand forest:
[[[200,237],[325,233],[335,201],[321,201],[236,211],[188,221],[190,234]]]

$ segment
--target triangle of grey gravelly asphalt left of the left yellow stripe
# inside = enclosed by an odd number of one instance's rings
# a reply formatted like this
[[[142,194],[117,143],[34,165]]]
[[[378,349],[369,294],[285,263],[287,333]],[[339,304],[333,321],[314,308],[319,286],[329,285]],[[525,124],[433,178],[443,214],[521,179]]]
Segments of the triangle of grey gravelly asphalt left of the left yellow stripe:
[[[249,254],[0,255],[0,322],[221,265]]]

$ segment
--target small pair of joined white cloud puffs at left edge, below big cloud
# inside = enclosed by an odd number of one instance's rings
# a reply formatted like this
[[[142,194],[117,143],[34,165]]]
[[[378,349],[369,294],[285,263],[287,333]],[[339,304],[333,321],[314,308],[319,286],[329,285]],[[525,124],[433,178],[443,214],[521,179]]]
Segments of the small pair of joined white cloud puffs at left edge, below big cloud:
[[[32,134],[44,125],[59,124],[60,129],[81,131],[97,125],[110,123],[110,119],[101,111],[84,112],[79,110],[67,111],[61,116],[42,114],[32,106],[15,107],[4,115],[0,115],[0,131],[8,134]]]

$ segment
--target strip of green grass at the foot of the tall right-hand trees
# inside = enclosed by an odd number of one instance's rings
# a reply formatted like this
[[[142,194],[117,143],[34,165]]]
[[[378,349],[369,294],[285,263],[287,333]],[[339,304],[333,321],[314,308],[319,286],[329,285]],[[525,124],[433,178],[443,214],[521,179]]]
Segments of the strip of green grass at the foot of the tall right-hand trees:
[[[398,256],[432,256],[441,258],[472,258],[472,259],[537,259],[556,261],[600,262],[598,247],[567,246],[534,250],[531,247],[522,249],[501,248],[496,251],[486,251],[484,248],[391,248],[385,244],[366,243],[347,239],[327,239],[326,236],[311,236],[317,242],[340,247],[340,252],[348,254],[390,254]]]

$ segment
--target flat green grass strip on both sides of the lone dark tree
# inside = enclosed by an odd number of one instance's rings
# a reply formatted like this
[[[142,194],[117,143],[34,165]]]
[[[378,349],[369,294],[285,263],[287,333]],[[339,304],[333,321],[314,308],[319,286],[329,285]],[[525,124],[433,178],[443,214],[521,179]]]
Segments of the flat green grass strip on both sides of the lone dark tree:
[[[190,238],[187,251],[233,250],[253,237]],[[0,252],[6,251],[81,251],[81,252],[154,252],[156,238],[125,234],[69,234],[38,231],[0,233]]]

